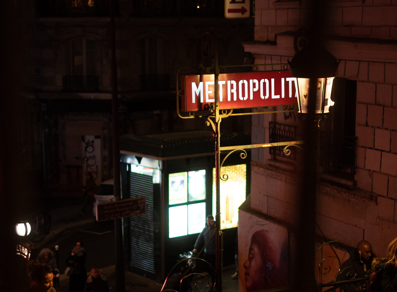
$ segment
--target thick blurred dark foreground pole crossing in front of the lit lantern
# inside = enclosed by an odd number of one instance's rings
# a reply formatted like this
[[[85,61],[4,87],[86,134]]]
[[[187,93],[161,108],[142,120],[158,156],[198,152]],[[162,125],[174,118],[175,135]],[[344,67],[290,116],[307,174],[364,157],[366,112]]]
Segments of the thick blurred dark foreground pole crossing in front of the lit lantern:
[[[321,27],[324,25],[325,1],[309,0],[308,28],[310,42],[321,44]],[[316,76],[312,76],[316,77]],[[301,188],[300,218],[297,232],[295,280],[298,292],[316,291],[315,282],[315,226],[316,226],[316,173],[318,124],[316,122],[316,78],[310,78],[308,115],[304,122],[305,159]]]

